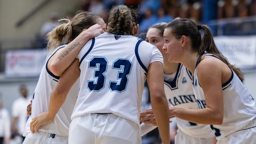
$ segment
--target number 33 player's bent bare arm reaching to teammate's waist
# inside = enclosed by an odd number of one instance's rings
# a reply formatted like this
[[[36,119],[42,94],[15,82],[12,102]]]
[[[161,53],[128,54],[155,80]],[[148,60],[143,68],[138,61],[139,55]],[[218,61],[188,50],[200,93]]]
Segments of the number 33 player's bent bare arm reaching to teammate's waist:
[[[32,119],[30,130],[38,132],[39,126],[52,122],[60,107],[65,102],[69,90],[80,76],[79,60],[75,59],[72,64],[60,76],[58,84],[53,88],[49,111],[43,112]]]

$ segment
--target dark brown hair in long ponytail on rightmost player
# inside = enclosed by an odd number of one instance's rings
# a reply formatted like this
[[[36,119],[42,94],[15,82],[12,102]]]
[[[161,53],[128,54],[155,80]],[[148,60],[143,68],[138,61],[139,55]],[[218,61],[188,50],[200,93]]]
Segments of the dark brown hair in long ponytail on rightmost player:
[[[210,29],[206,25],[200,25],[199,27],[189,19],[177,19],[170,22],[166,28],[171,28],[172,35],[176,39],[180,39],[181,36],[188,36],[191,39],[192,50],[198,52],[200,58],[205,52],[218,56],[228,67],[230,67],[239,79],[243,82],[244,76],[240,68],[236,68],[235,65],[231,65],[227,58],[216,47],[213,36]],[[201,39],[201,33],[199,29],[203,29],[204,35]]]

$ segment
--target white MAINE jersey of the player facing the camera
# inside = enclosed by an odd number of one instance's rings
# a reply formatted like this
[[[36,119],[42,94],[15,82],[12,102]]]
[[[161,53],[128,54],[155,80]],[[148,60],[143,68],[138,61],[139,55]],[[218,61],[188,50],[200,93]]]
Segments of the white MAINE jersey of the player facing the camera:
[[[169,104],[181,108],[199,109],[192,86],[192,73],[179,64],[176,74],[164,75],[164,91]],[[214,137],[206,124],[195,124],[177,118],[177,126],[183,133],[196,138]]]

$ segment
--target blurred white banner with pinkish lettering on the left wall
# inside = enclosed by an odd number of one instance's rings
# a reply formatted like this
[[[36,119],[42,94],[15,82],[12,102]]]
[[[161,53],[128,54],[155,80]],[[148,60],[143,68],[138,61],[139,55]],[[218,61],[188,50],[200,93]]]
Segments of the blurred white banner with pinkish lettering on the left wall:
[[[6,77],[39,76],[47,54],[47,50],[8,51],[4,74]]]

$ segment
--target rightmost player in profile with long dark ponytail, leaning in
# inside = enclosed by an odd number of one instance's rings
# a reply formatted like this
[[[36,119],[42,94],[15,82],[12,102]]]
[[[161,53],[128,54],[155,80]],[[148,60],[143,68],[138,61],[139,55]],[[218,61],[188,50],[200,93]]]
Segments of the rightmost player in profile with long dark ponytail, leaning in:
[[[204,31],[202,39],[200,29]],[[210,124],[217,144],[255,143],[255,102],[242,84],[242,72],[220,53],[209,28],[188,19],[174,20],[164,30],[163,50],[169,62],[180,62],[192,72],[200,108],[171,107],[170,115]]]

